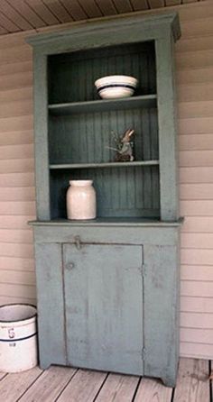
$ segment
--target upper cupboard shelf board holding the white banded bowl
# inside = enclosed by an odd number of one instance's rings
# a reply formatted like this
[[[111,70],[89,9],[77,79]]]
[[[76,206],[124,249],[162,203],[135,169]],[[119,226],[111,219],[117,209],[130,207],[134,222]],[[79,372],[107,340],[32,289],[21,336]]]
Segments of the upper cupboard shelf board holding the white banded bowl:
[[[73,102],[49,105],[49,111],[54,115],[106,112],[108,110],[131,109],[137,107],[155,107],[157,96],[144,95],[120,99],[102,99],[87,102]]]

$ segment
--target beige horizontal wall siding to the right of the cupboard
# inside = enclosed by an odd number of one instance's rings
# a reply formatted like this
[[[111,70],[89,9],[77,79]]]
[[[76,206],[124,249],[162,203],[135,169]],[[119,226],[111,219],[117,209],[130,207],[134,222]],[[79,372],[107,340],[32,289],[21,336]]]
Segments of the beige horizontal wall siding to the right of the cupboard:
[[[181,355],[213,357],[213,2],[179,7]]]

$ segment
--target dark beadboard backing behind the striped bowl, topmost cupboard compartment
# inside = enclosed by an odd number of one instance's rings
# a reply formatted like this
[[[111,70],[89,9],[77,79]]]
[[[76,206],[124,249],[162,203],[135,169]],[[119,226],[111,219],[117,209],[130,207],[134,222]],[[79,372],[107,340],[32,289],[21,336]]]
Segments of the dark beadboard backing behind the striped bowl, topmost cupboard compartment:
[[[76,51],[49,57],[49,103],[99,99],[94,82],[111,75],[133,76],[134,95],[155,94],[153,41],[106,49]]]

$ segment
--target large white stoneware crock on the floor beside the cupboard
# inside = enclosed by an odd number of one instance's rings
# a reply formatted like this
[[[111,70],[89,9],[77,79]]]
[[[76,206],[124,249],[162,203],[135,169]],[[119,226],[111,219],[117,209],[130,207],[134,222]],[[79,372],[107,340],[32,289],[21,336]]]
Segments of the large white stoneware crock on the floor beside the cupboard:
[[[37,365],[36,307],[0,306],[0,371],[18,372]]]

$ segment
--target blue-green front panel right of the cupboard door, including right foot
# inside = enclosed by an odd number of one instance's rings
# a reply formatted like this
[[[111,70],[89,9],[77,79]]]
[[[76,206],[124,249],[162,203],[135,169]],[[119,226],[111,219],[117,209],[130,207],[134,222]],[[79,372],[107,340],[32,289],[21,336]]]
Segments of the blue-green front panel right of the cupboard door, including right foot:
[[[177,246],[144,246],[144,373],[173,386],[179,357]]]

